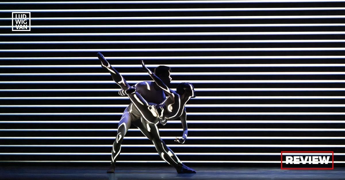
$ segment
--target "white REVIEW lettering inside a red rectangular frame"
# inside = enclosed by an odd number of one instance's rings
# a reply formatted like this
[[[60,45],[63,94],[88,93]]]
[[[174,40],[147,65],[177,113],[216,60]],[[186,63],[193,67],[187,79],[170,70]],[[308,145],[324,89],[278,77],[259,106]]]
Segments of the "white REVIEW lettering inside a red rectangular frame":
[[[333,151],[282,151],[281,169],[334,169]]]

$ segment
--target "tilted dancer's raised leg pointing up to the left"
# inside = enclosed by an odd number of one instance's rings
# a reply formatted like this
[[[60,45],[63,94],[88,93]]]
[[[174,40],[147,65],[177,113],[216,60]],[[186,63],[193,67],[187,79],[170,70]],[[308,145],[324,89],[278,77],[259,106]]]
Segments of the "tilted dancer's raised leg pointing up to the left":
[[[130,85],[126,82],[125,78],[118,73],[114,67],[112,67],[105,57],[101,53],[97,53],[98,59],[101,61],[102,67],[107,68],[110,72],[112,79],[118,84],[121,89],[125,90],[125,93],[128,95],[131,102],[136,106],[139,110],[142,117],[151,124],[158,124],[159,118],[158,115],[154,116],[149,109],[149,104],[147,101],[138,93],[135,92],[135,88],[130,87]],[[132,91],[134,89],[134,91]],[[130,91],[130,92],[128,92]],[[151,107],[152,108],[152,107]]]

